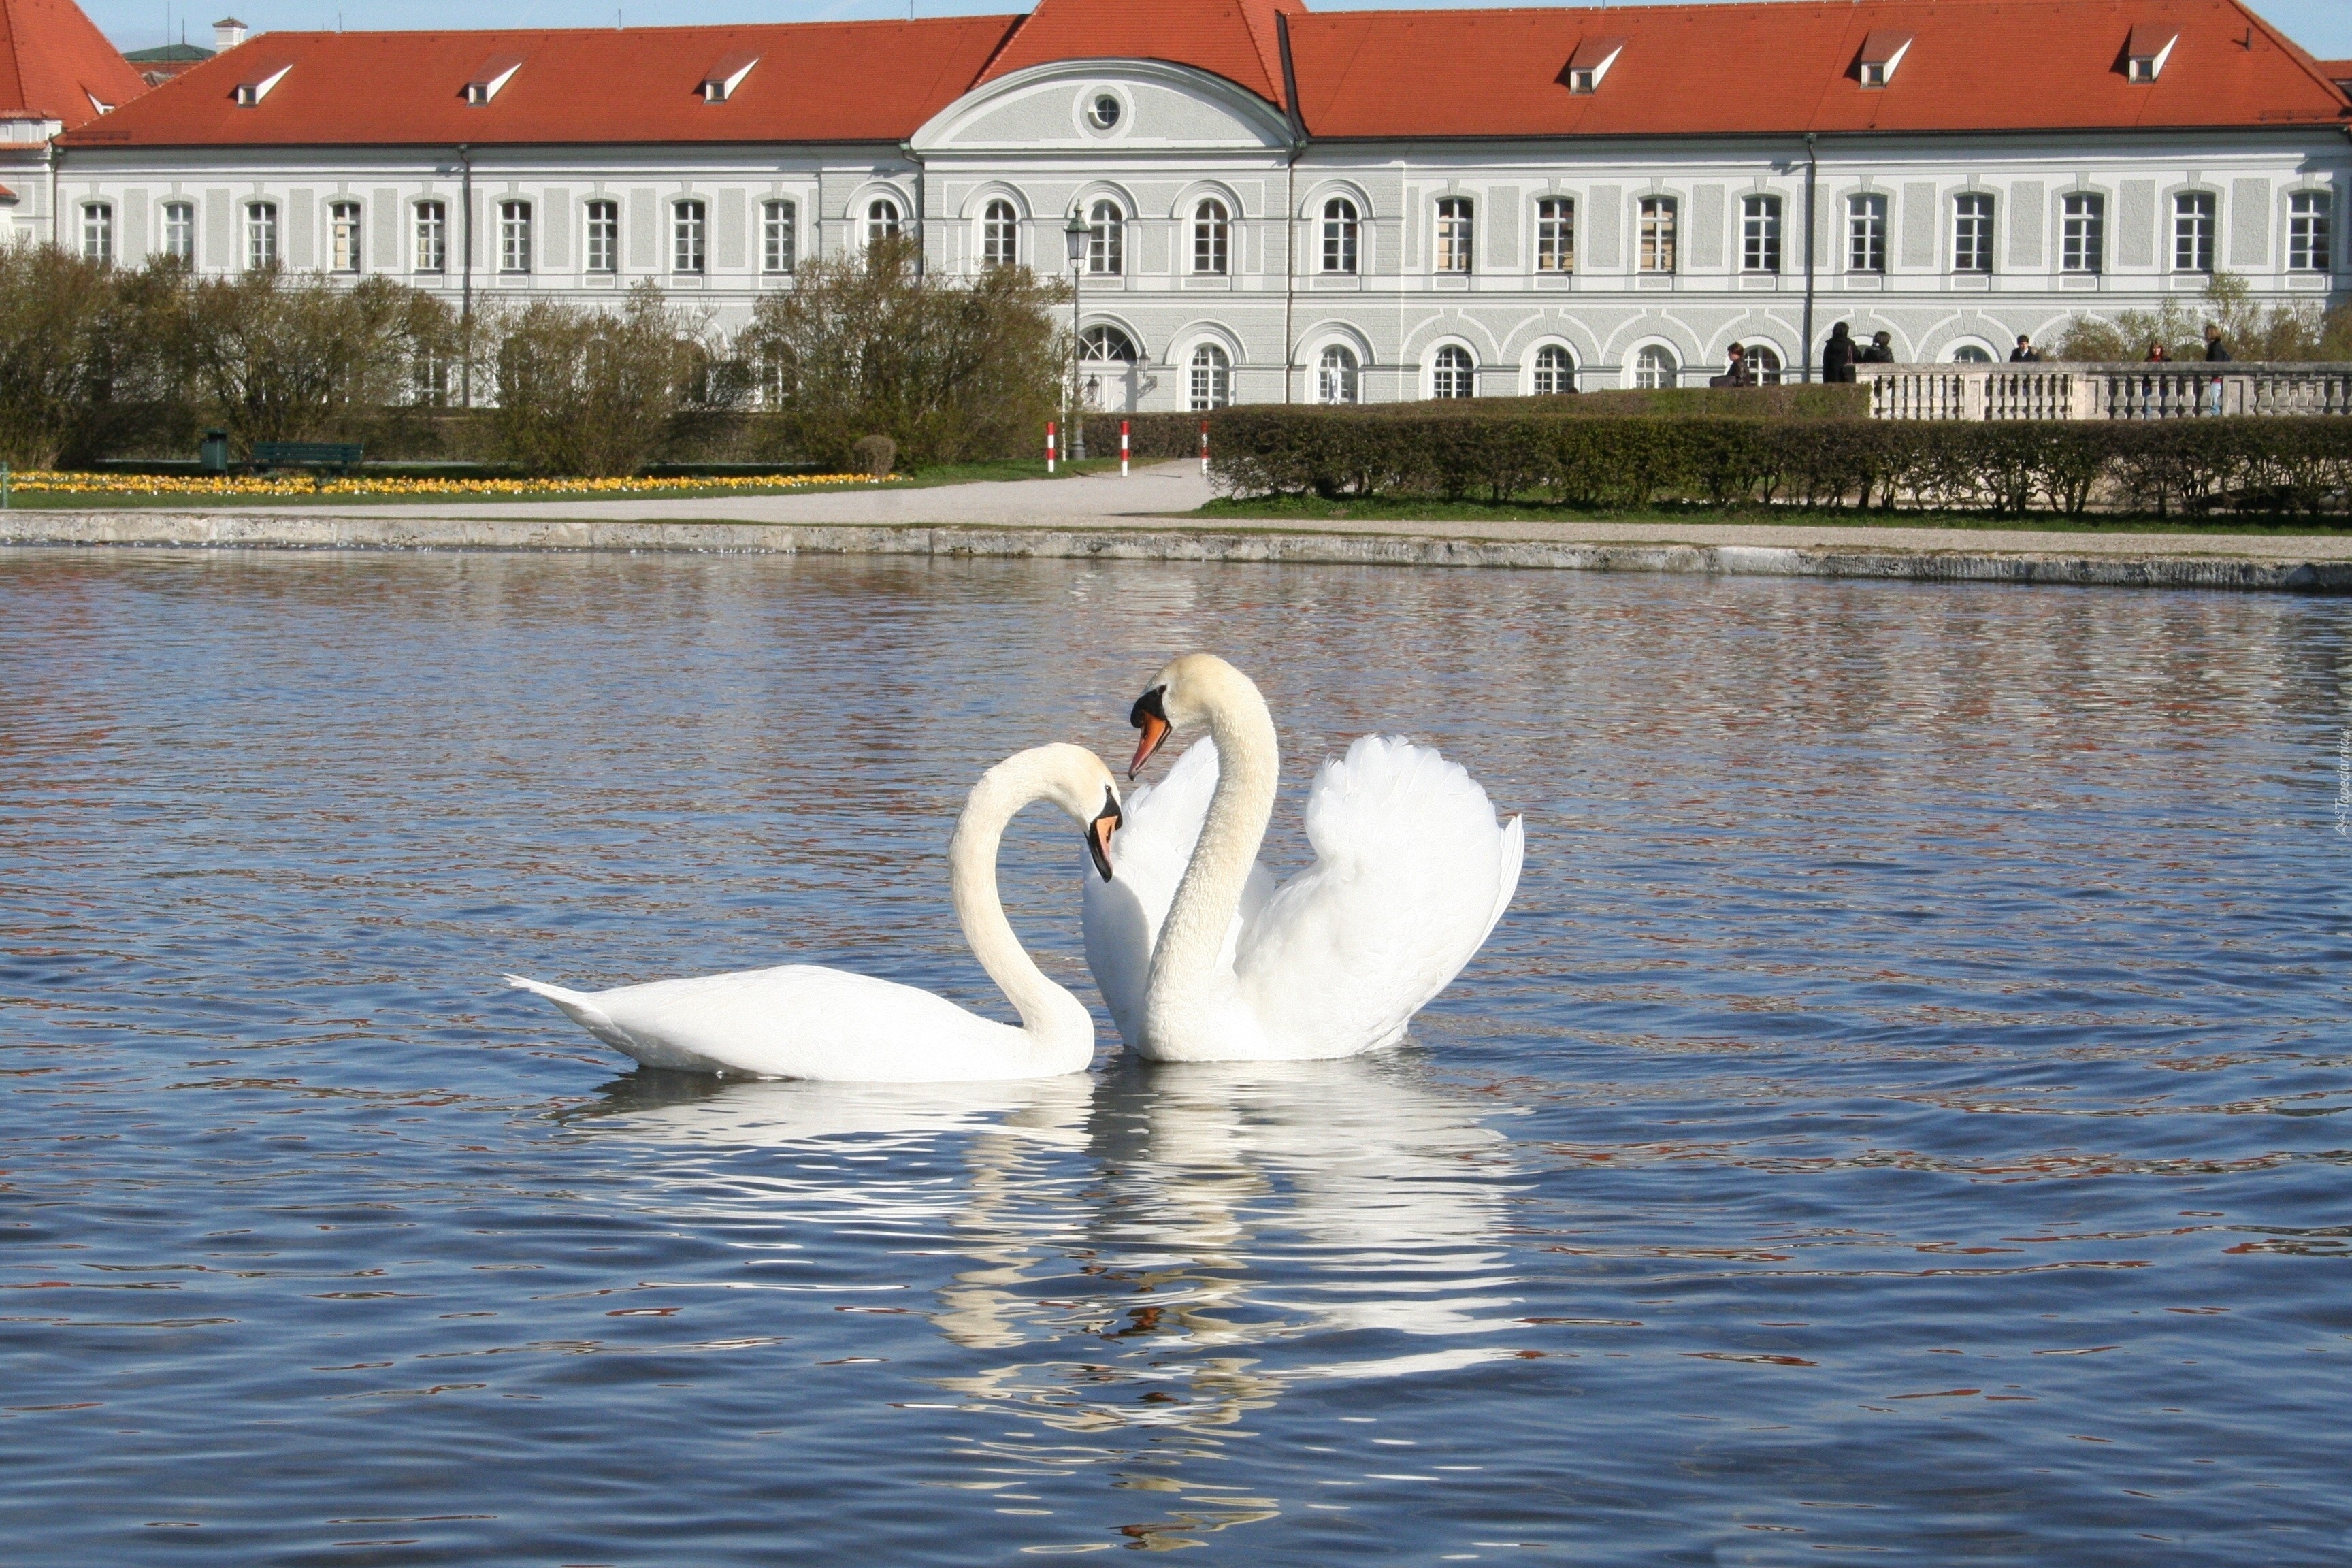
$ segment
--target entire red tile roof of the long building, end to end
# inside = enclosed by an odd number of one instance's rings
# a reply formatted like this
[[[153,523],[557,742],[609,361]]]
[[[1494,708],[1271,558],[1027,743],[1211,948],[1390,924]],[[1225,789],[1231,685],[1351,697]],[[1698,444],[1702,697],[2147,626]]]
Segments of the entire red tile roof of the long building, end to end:
[[[12,19],[71,9],[66,0],[0,0],[0,14]],[[1310,134],[1338,139],[2067,132],[2352,118],[2328,68],[2241,0],[1329,14],[1305,12],[1303,0],[1040,0],[1028,16],[929,21],[270,33],[85,125],[71,141],[903,141],[971,87],[1063,59],[1174,61],[1284,103],[1277,14],[1289,19],[1296,110]],[[2157,82],[2124,75],[2133,28],[2180,38]],[[1884,89],[1856,80],[1872,35],[1912,38]],[[1599,92],[1571,94],[1564,66],[1602,38],[1625,40],[1623,54]],[[760,63],[724,103],[706,103],[703,80],[734,56]],[[111,59],[120,66],[120,56]],[[466,82],[485,61],[503,59],[522,68],[492,103],[468,106]],[[289,68],[285,80],[259,106],[235,106],[240,82],[280,68]]]

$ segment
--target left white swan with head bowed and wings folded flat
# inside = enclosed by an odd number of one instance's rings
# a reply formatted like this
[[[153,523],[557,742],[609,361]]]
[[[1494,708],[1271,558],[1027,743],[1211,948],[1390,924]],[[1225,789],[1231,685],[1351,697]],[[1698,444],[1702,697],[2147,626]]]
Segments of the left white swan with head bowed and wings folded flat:
[[[1096,870],[1110,877],[1120,790],[1082,745],[1040,745],[981,773],[948,846],[948,889],[971,954],[1021,1013],[1021,1027],[969,1013],[913,985],[816,964],[750,969],[574,992],[506,976],[539,992],[614,1051],[647,1067],[741,1072],[842,1084],[960,1084],[1084,1072],[1094,1060],[1087,1004],[1021,950],[997,898],[997,842],[1030,802],[1049,799],[1087,825]]]

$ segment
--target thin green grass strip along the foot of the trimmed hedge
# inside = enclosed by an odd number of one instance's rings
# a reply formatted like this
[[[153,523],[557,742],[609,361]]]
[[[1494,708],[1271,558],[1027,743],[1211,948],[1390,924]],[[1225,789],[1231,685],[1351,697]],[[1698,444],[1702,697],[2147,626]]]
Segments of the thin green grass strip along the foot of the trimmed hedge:
[[[1324,501],[1322,496],[1261,496],[1256,501],[1216,498],[1190,512],[1192,517],[1251,520],[1251,522],[1656,522],[1656,524],[1764,524],[1764,527],[1830,527],[1830,529],[2032,529],[2042,534],[2347,534],[2352,520],[2183,520],[2147,515],[2098,515],[2060,517],[2058,512],[2027,512],[2023,517],[1997,512],[1882,512],[1851,508],[1802,508],[1802,505],[1649,505],[1639,510],[1585,510],[1552,501]]]

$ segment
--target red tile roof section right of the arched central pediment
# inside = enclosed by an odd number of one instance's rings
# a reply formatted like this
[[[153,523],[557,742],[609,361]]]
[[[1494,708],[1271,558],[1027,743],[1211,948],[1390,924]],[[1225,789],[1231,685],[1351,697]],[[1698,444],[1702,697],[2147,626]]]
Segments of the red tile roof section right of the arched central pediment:
[[[2136,26],[2178,31],[2154,82],[2124,78]],[[1912,33],[1884,89],[1863,38]],[[1578,40],[1625,38],[1571,94]],[[1312,136],[1675,136],[2336,122],[2317,61],[2237,0],[1865,0],[1291,19]]]

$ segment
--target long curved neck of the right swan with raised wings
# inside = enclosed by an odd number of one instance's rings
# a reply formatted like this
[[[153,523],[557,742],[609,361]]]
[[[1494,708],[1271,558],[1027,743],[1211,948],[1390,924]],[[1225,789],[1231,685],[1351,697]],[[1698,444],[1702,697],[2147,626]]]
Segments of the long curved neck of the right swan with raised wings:
[[[1275,813],[1275,785],[1282,780],[1282,748],[1275,738],[1275,715],[1240,670],[1216,679],[1209,691],[1192,693],[1209,715],[1216,738],[1216,795],[1192,846],[1183,882],[1160,926],[1152,950],[1152,973],[1143,992],[1145,1039],[1169,1039],[1185,1027],[1216,961],[1225,950],[1225,931],[1242,907],[1249,867],[1258,860],[1265,823]]]

